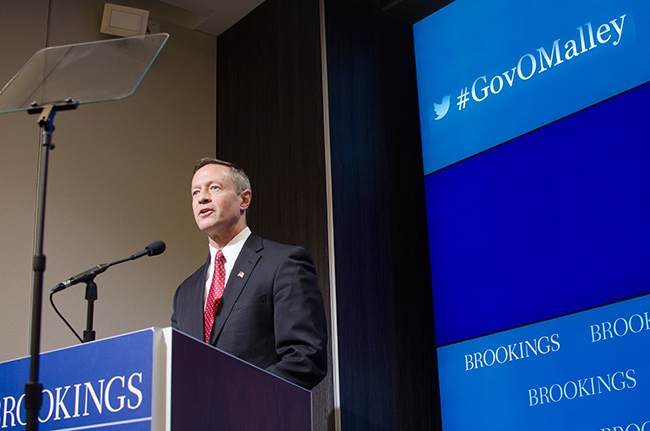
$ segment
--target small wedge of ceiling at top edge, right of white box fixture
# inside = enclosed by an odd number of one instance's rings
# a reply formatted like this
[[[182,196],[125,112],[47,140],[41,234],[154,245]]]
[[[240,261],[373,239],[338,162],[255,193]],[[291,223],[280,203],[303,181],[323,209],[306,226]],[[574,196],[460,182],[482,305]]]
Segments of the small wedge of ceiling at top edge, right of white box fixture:
[[[218,36],[230,28],[264,0],[159,0],[180,9],[167,11],[165,19],[176,24]],[[177,11],[178,11],[177,9]],[[150,19],[155,19],[151,11]]]

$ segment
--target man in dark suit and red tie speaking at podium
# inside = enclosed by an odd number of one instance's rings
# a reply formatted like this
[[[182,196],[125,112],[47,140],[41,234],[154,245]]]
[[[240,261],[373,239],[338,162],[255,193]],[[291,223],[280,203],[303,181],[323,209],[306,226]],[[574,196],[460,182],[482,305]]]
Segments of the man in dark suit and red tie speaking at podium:
[[[306,250],[250,231],[251,198],[239,167],[209,158],[195,166],[192,210],[210,255],[176,290],[172,327],[311,389],[327,371],[327,325],[314,263]],[[219,283],[222,293],[214,293]]]

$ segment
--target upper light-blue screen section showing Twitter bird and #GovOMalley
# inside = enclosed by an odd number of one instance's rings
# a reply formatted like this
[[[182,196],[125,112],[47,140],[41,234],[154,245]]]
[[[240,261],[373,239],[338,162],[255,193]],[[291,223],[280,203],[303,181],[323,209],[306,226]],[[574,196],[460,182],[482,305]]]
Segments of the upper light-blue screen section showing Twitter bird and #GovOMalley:
[[[650,74],[647,0],[457,0],[414,37],[425,174]]]

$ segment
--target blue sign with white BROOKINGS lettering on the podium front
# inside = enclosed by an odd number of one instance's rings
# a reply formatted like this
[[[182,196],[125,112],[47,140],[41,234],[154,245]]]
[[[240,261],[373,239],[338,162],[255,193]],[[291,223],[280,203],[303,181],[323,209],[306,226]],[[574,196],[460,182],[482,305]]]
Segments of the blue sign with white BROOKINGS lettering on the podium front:
[[[151,430],[149,329],[41,355],[39,429]],[[24,429],[29,358],[0,364],[0,429]]]

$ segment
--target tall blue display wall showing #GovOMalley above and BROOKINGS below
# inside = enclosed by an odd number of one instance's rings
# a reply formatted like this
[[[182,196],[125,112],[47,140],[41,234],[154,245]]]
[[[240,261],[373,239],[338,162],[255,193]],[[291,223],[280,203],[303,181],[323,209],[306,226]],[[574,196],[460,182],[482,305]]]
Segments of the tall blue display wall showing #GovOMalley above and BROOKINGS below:
[[[650,2],[414,36],[443,431],[650,431]]]

